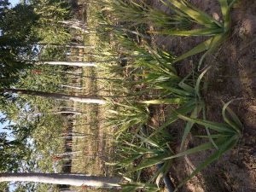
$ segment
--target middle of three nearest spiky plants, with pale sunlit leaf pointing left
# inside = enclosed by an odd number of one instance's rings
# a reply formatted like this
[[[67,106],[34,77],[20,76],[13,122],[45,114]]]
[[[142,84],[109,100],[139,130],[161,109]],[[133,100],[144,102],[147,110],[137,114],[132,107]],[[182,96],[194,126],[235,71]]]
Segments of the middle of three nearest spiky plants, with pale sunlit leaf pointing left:
[[[207,73],[210,67],[208,67],[203,73],[197,78],[195,85],[188,84],[186,81],[189,79],[189,76],[180,81],[176,86],[173,85],[161,85],[162,89],[166,89],[169,92],[169,97],[166,99],[157,99],[150,101],[143,101],[146,104],[171,104],[176,105],[177,109],[172,110],[172,112],[167,115],[166,122],[161,125],[152,135],[157,134],[158,131],[165,129],[168,125],[171,125],[178,118],[178,114],[189,115],[191,118],[197,118],[201,112],[205,110],[205,102],[201,99],[201,80],[204,75]],[[160,86],[160,85],[159,85]],[[183,139],[181,148],[185,142],[186,137],[189,135],[193,122],[188,122],[185,126],[183,133]]]

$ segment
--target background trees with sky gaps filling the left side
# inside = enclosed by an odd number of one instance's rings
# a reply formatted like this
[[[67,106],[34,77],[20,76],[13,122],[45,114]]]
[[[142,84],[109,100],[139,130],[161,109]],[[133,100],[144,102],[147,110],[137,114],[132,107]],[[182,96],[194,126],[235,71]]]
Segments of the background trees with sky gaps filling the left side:
[[[84,15],[78,12],[76,1],[35,0],[15,6],[8,0],[0,2],[1,172],[62,171],[64,158],[55,153],[67,150],[60,137],[80,112],[69,102],[7,89],[79,94],[80,67],[44,65],[45,61],[83,61],[84,54],[79,56],[86,49],[83,29],[74,22]],[[58,189],[11,185],[19,192]],[[9,184],[1,183],[0,190],[9,191]]]

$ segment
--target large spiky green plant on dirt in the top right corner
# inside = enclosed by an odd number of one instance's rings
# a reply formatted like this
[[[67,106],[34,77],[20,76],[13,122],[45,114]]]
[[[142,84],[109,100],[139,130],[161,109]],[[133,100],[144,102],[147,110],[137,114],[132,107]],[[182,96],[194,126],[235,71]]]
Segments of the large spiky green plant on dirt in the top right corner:
[[[221,12],[223,15],[223,22],[213,19],[210,15],[207,15],[205,12],[200,9],[195,8],[192,4],[188,3],[185,0],[177,1],[177,0],[168,0],[166,3],[163,0],[160,0],[167,7],[173,10],[176,15],[180,17],[187,17],[188,20],[196,23],[201,26],[196,29],[190,30],[179,30],[179,29],[167,29],[162,30],[160,32],[153,32],[158,34],[166,34],[173,36],[209,36],[211,38],[207,39],[205,42],[198,44],[195,48],[190,49],[188,52],[184,53],[177,57],[174,62],[182,61],[183,59],[199,54],[203,51],[206,51],[204,55],[201,56],[201,60],[199,62],[198,68],[201,67],[201,63],[206,57],[206,55],[212,53],[215,49],[218,48],[220,44],[224,42],[226,38],[228,38],[230,34],[230,9],[233,3],[236,0],[228,1],[228,0],[218,0],[221,8]]]

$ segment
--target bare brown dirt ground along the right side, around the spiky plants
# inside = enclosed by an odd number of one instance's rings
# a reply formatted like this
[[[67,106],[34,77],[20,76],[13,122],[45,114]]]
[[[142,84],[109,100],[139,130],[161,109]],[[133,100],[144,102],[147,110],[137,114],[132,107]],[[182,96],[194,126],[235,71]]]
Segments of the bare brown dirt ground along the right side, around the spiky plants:
[[[190,3],[221,20],[217,0],[191,0]],[[151,4],[157,9],[169,12],[160,1],[152,0]],[[205,99],[207,119],[222,122],[221,101],[241,98],[234,102],[231,108],[244,125],[243,137],[235,149],[191,179],[180,192],[256,191],[256,2],[247,0],[237,3],[231,15],[230,38],[214,55],[207,56],[205,61],[206,66],[212,66],[212,71],[207,77],[208,89]],[[175,55],[191,49],[201,41],[202,38],[154,37],[155,44]],[[178,64],[179,73],[187,73],[191,69],[189,65],[196,63],[199,58],[200,55],[195,55]],[[175,129],[179,139],[183,133],[181,128]],[[187,142],[188,148],[198,143],[200,140],[193,137],[192,131]],[[181,182],[209,154],[211,153],[206,152],[175,160],[171,171],[174,182]]]

